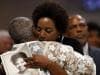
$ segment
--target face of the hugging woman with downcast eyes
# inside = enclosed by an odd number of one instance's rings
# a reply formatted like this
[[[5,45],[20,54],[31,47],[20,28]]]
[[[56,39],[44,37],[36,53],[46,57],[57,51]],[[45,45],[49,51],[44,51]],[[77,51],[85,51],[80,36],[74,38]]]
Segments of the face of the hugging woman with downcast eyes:
[[[55,41],[59,36],[55,23],[47,17],[38,20],[36,30],[40,41]]]

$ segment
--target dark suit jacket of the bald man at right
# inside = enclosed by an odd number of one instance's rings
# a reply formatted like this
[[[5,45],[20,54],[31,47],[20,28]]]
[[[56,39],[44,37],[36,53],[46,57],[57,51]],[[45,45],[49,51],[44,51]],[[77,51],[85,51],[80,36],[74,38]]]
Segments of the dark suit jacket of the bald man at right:
[[[96,75],[100,75],[100,48],[89,47],[89,55],[96,64]]]

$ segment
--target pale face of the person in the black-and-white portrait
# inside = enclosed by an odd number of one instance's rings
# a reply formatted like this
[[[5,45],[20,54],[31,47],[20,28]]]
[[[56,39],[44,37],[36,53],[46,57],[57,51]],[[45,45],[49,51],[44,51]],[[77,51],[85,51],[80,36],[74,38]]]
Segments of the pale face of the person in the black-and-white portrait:
[[[24,72],[26,70],[26,67],[25,67],[26,62],[21,57],[16,59],[15,65],[19,69],[20,72]]]

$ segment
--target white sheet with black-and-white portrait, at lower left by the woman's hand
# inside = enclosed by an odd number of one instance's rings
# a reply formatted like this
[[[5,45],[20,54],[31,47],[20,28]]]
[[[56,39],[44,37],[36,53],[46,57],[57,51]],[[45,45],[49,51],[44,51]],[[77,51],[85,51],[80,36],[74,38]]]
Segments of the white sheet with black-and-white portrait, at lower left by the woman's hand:
[[[26,68],[24,58],[32,53],[27,43],[14,45],[11,51],[1,55],[6,75],[39,75],[39,69]]]

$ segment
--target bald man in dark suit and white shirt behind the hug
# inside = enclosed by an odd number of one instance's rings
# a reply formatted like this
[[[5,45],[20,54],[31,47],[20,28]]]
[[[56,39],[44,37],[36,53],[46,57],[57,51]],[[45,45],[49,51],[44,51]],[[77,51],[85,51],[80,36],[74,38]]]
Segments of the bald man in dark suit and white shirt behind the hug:
[[[80,42],[83,54],[93,57],[96,63],[96,75],[100,75],[100,49],[93,48],[88,44],[88,34],[88,26],[82,16],[73,15],[69,17],[68,27],[64,36],[76,39]]]

